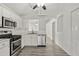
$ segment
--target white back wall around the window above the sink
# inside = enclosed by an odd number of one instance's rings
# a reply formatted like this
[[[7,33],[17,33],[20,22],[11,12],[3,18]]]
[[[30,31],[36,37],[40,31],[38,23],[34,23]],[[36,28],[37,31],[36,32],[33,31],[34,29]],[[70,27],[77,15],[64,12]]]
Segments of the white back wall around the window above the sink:
[[[39,32],[38,33],[46,33],[46,22],[48,20],[47,16],[38,16],[38,15],[33,15],[30,17],[23,16],[23,24],[25,24],[26,28],[28,29],[28,21],[29,20],[34,20],[37,19],[39,20]]]

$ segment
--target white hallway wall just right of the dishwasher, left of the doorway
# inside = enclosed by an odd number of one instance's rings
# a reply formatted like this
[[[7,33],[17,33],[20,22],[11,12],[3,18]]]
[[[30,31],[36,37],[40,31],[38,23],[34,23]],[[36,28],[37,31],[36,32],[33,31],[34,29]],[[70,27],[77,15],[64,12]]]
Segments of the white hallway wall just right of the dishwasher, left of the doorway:
[[[49,22],[46,23],[46,36],[47,36],[47,39],[46,39],[46,45],[47,46],[50,46],[52,45],[52,42],[53,42],[53,22],[56,22],[56,19],[55,18],[52,18]]]

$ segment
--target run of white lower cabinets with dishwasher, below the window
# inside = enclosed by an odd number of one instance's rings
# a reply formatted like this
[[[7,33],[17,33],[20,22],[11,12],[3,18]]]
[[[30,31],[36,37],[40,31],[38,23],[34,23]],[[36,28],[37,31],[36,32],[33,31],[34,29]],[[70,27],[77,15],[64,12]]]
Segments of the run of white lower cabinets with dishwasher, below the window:
[[[46,35],[44,34],[28,34],[22,36],[22,46],[38,46],[46,45]]]

